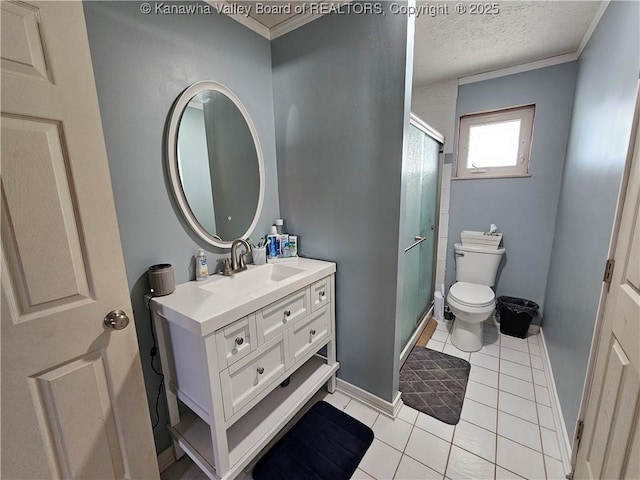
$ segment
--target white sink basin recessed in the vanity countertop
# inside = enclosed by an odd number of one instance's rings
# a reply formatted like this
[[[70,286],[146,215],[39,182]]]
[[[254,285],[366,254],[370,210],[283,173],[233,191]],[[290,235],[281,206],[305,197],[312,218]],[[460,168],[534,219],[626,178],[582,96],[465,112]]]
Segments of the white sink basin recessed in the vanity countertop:
[[[304,272],[302,269],[278,264],[249,265],[247,270],[237,272],[230,277],[216,275],[199,287],[225,297],[255,297],[277,286],[282,280],[302,272]]]

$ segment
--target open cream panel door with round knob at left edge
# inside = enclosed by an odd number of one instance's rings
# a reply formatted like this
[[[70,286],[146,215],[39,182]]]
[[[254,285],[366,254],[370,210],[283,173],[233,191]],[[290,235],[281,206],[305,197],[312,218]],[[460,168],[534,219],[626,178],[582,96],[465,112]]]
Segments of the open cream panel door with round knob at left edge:
[[[158,478],[82,3],[1,8],[0,477]]]

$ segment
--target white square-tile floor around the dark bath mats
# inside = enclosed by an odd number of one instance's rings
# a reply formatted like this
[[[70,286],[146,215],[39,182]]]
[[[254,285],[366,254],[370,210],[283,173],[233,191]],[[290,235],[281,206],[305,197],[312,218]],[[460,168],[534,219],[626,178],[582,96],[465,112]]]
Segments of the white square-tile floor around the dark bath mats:
[[[521,340],[487,324],[483,348],[469,354],[451,344],[450,327],[440,323],[427,346],[472,365],[456,426],[407,406],[391,419],[340,392],[326,394],[375,434],[353,479],[563,480],[538,336]],[[186,459],[162,479],[206,477]]]

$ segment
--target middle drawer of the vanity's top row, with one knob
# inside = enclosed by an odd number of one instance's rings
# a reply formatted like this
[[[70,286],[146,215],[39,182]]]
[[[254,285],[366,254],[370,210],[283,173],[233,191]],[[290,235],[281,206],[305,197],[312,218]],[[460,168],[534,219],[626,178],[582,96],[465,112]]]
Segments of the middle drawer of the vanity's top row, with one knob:
[[[258,345],[268,342],[289,325],[305,317],[309,308],[309,290],[304,288],[263,308],[256,314]]]

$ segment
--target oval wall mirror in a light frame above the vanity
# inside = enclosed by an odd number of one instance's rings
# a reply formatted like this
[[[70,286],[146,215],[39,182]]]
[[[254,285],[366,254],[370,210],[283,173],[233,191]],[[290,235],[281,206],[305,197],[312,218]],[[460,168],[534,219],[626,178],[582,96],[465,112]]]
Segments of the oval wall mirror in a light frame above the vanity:
[[[198,82],[176,100],[167,131],[171,187],[193,231],[229,248],[246,239],[264,201],[264,159],[242,102],[216,82]]]

